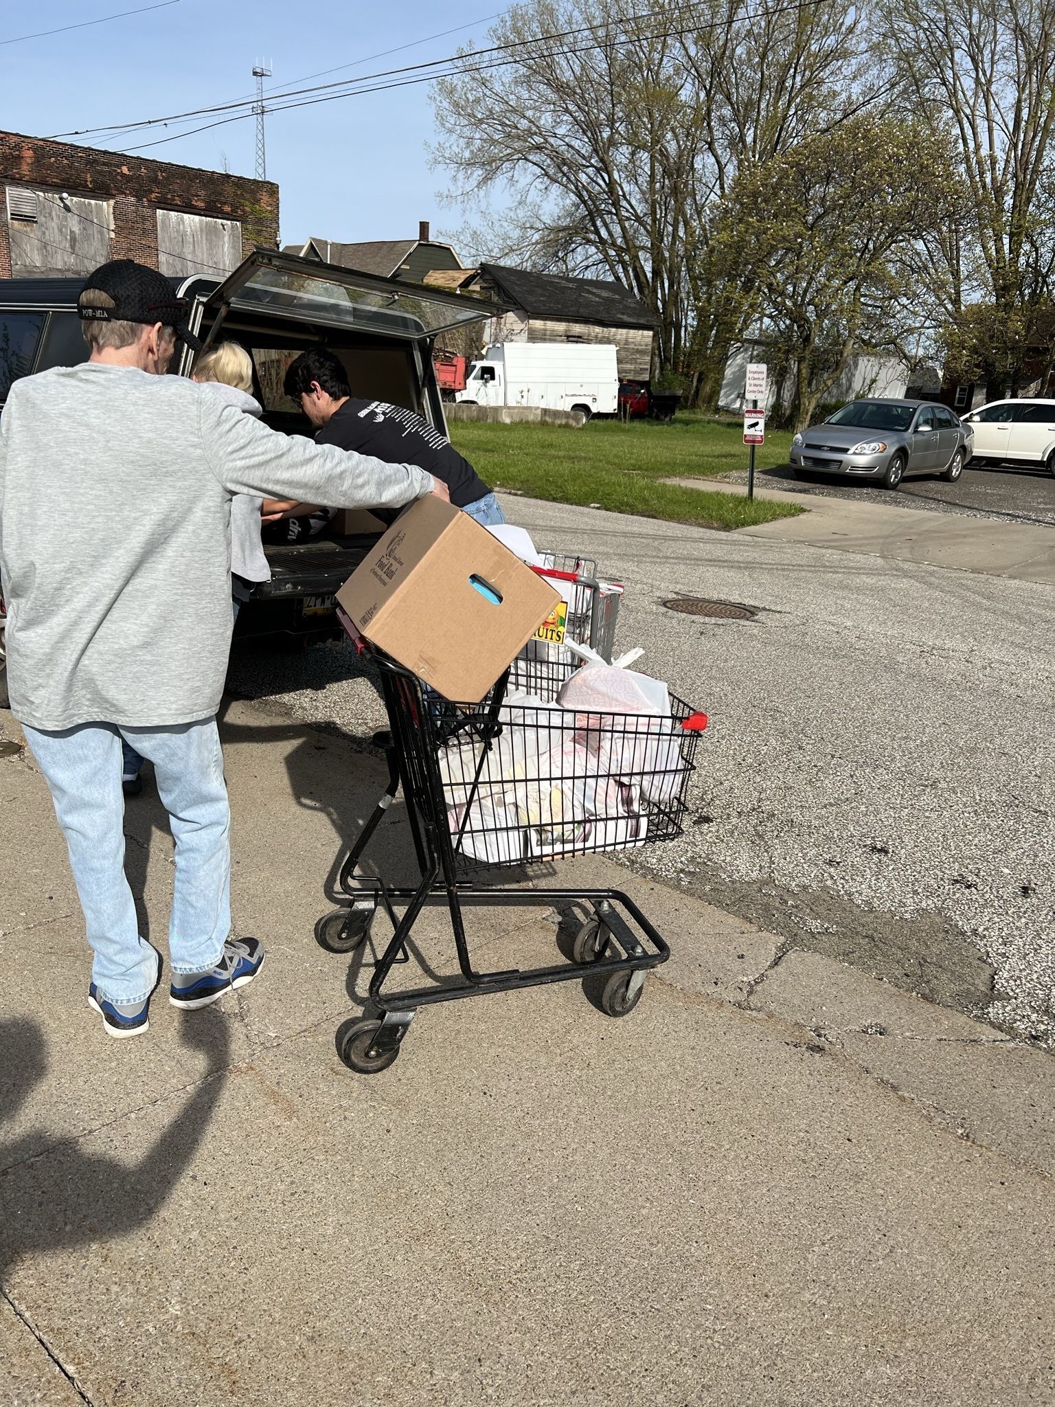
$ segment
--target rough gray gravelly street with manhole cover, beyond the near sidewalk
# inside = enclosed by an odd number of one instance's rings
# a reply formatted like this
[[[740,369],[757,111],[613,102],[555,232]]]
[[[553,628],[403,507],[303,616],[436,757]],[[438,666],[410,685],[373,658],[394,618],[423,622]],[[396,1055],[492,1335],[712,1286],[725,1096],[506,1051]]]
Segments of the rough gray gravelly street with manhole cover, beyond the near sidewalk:
[[[509,502],[626,582],[619,643],[712,719],[685,834],[636,870],[1055,1045],[1055,591],[906,561]],[[750,622],[665,611],[678,594]],[[236,654],[236,692],[366,740],[350,649]],[[920,978],[914,964],[952,974]],[[869,962],[862,960],[862,965]],[[993,991],[987,993],[989,974]],[[942,985],[944,983],[944,985]]]

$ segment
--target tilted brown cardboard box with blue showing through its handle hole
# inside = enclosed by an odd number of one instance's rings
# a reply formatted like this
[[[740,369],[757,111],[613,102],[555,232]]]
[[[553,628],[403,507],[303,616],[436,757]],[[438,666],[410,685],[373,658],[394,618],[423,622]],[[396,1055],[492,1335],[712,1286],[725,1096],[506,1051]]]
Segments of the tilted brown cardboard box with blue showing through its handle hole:
[[[460,508],[430,494],[338,591],[360,635],[456,702],[478,704],[560,592]]]

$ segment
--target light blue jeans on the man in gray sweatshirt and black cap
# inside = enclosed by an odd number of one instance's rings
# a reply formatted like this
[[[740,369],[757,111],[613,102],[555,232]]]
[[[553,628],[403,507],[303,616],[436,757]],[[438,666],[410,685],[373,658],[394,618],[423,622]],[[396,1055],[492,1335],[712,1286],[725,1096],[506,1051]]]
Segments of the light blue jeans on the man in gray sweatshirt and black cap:
[[[158,954],[139,936],[125,877],[121,744],[153,763],[176,841],[169,954],[173,972],[214,968],[231,931],[231,812],[214,718],[173,727],[83,723],[60,733],[24,727],[51,788],[94,953],[91,979],[110,1002],[142,1002]]]

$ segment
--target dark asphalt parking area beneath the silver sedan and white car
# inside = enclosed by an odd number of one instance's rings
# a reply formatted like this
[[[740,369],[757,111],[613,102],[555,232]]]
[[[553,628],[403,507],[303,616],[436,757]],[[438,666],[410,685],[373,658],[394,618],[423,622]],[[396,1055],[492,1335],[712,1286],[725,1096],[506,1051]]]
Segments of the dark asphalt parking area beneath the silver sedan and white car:
[[[726,483],[746,484],[747,471],[723,474],[722,478]],[[809,481],[800,480],[796,478],[791,464],[761,470],[755,481],[789,492],[838,497],[885,508],[927,508],[933,512],[997,518],[1006,522],[1055,525],[1055,476],[1045,469],[1007,464],[985,469],[968,466],[955,484],[931,476],[910,476],[902,481],[896,492],[821,474]]]

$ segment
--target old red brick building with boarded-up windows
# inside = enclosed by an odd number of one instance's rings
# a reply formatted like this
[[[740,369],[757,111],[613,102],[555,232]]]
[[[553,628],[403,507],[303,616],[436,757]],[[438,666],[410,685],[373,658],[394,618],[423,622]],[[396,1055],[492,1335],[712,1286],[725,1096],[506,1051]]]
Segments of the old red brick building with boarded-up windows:
[[[0,132],[1,279],[90,273],[107,259],[229,273],[277,243],[273,182]]]

